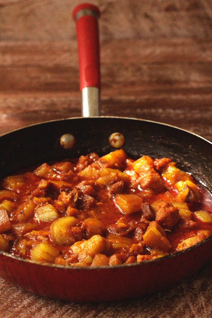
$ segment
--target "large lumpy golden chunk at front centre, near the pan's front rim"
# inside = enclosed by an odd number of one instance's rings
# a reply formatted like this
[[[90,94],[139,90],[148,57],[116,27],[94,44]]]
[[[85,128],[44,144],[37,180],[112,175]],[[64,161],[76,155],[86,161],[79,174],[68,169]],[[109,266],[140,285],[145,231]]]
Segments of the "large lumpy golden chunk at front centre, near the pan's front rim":
[[[87,256],[94,257],[95,254],[104,254],[107,250],[107,241],[100,235],[93,235],[90,239],[74,243],[70,249],[78,254],[79,261],[85,260]]]

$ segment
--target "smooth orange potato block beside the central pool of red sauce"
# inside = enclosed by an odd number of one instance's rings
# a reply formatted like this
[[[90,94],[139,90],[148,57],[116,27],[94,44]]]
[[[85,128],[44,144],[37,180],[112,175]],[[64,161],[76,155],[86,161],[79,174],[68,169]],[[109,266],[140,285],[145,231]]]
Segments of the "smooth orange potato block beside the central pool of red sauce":
[[[141,211],[143,199],[135,194],[117,194],[115,203],[126,214]]]

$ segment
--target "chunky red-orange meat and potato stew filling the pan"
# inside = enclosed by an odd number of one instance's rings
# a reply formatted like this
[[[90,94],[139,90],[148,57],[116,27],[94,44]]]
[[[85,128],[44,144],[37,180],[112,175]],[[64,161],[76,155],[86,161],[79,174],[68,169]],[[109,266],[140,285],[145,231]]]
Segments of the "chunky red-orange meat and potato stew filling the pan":
[[[212,233],[206,190],[169,158],[122,149],[44,163],[0,190],[0,249],[65,266],[142,262]]]

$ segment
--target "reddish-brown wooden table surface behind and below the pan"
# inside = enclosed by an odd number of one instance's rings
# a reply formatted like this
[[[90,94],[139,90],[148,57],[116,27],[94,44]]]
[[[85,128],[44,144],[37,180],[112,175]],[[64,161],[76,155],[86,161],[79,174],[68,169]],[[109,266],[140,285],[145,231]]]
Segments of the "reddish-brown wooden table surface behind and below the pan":
[[[71,12],[81,2],[0,0],[0,133],[80,115]],[[211,2],[90,2],[102,12],[102,115],[161,121],[212,141]],[[74,304],[0,279],[0,317],[211,318],[211,284],[212,263],[178,286],[138,300]]]

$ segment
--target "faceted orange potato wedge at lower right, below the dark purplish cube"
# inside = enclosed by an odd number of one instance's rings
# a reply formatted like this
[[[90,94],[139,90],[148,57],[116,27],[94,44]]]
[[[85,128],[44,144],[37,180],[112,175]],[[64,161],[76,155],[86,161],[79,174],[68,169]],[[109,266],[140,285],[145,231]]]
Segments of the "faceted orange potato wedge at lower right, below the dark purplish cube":
[[[150,248],[168,252],[172,245],[166,238],[165,231],[157,222],[150,222],[147,231],[143,235],[143,240]]]

